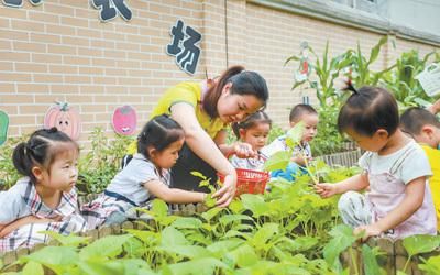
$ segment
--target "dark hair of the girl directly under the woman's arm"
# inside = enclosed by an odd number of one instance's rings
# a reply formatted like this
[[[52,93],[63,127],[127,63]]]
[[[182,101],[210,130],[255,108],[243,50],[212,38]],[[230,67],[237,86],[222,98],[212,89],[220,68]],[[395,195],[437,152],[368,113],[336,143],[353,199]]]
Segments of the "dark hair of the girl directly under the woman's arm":
[[[139,134],[138,153],[150,158],[150,146],[161,152],[173,142],[184,138],[184,129],[175,120],[166,114],[157,116],[150,120]]]

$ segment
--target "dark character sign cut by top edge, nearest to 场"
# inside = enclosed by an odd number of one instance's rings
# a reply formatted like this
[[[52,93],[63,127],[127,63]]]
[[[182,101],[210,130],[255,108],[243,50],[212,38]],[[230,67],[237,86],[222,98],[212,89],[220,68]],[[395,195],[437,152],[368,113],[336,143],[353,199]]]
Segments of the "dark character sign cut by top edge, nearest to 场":
[[[125,21],[131,20],[132,13],[124,0],[92,0],[95,9],[100,10],[99,18],[106,22],[112,20],[119,13]]]

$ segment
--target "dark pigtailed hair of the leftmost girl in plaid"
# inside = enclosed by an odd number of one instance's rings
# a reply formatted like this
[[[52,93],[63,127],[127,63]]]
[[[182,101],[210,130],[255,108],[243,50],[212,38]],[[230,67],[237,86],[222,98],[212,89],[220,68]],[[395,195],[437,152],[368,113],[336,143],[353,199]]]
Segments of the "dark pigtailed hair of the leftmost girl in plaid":
[[[12,162],[16,170],[36,183],[32,168],[41,166],[51,174],[51,165],[59,153],[66,150],[79,152],[78,144],[56,128],[36,130],[28,142],[22,142],[13,151]]]

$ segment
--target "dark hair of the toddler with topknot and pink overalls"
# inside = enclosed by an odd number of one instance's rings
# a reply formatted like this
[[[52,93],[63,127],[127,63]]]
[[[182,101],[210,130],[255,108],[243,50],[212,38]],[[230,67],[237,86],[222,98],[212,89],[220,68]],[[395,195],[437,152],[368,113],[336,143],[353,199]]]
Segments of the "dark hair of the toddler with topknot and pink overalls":
[[[373,136],[378,129],[392,135],[399,125],[396,99],[386,89],[364,86],[353,90],[338,117],[340,133],[352,129],[356,133]]]

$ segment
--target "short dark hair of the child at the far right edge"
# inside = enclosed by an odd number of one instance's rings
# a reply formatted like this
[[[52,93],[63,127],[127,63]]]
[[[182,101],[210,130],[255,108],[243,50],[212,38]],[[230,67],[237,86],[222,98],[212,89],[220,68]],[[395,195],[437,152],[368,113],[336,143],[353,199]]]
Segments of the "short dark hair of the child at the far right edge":
[[[437,120],[433,113],[424,108],[411,107],[400,116],[400,128],[404,132],[419,134],[427,124],[440,129],[440,121]]]

